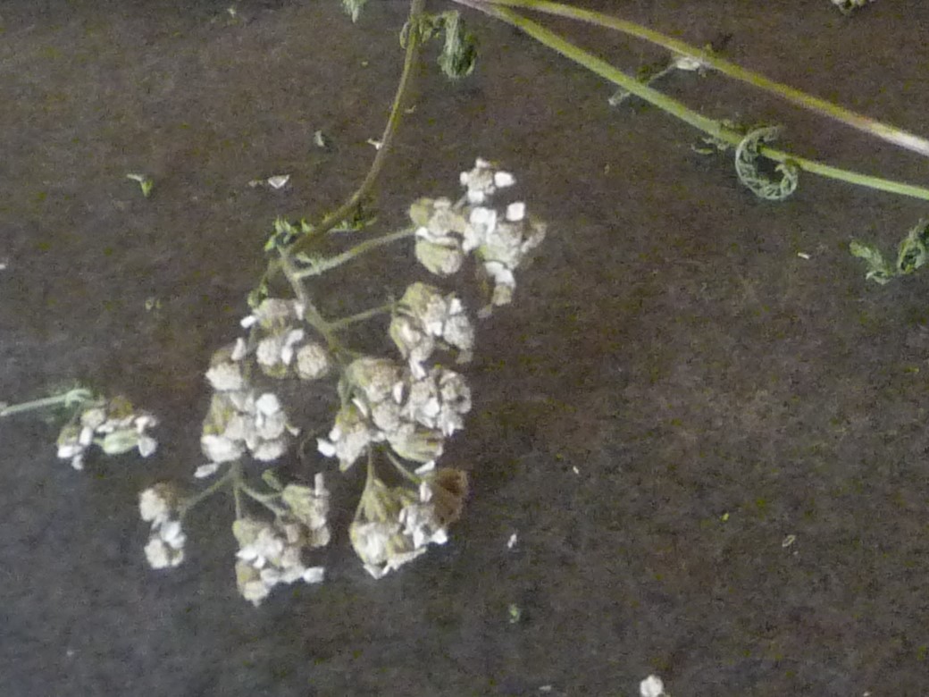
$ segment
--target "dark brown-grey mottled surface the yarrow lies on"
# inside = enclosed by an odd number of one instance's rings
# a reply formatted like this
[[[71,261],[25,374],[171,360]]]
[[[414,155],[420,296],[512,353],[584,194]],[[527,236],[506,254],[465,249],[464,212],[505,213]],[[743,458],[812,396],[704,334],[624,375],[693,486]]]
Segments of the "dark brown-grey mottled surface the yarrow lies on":
[[[695,45],[730,35],[730,59],[929,135],[926,3],[584,5]],[[0,694],[630,695],[652,672],[675,697],[925,692],[929,277],[865,283],[846,247],[891,249],[926,206],[813,177],[756,201],[686,125],[609,109],[608,85],[472,12],[478,71],[448,85],[427,61],[381,222],[453,194],[482,155],[550,237],[479,335],[451,543],[374,582],[337,534],[324,585],[254,610],[216,497],[188,561],[147,569],[137,492],[202,460],[203,369],[237,334],[270,221],[352,190],[399,75],[404,2],[356,26],[334,0],[246,0],[235,24],[228,6],[0,5],[0,398],[80,378],[163,419],[154,457],[83,473],[53,425],[0,423]],[[625,69],[661,58],[552,25]],[[718,75],[662,87],[785,124],[799,154],[927,181],[924,159]],[[286,190],[247,186],[280,173]],[[409,256],[367,259],[323,305],[396,292]],[[360,480],[330,481],[344,526]]]

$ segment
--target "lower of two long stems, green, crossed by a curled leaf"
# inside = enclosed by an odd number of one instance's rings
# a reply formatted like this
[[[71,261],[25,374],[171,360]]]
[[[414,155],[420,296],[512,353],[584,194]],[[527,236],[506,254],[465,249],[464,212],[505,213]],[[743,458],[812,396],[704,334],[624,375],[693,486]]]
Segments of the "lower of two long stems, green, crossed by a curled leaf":
[[[494,0],[494,2],[495,1],[496,0]],[[688,109],[685,104],[677,101],[676,99],[672,99],[667,95],[662,94],[658,90],[652,89],[648,85],[643,85],[638,80],[635,80],[635,78],[632,78],[624,72],[614,68],[607,61],[596,58],[594,55],[584,51],[579,46],[575,46],[574,44],[569,43],[558,34],[545,29],[542,25],[537,24],[534,21],[527,20],[524,17],[520,17],[519,15],[505,9],[504,7],[492,6],[491,0],[455,0],[455,2],[461,5],[466,5],[468,7],[474,7],[475,9],[491,15],[491,17],[504,21],[508,24],[512,24],[521,31],[528,33],[532,38],[536,39],[544,46],[548,46],[549,48],[555,50],[557,53],[560,53],[565,58],[571,59],[576,63],[581,64],[589,71],[595,72],[595,74],[607,79],[614,85],[621,86],[622,88],[634,94],[636,97],[645,99],[662,111],[672,114],[681,121],[684,121],[685,123],[700,129],[713,138],[722,140],[730,145],[738,145],[742,138],[744,138],[744,136],[734,128],[729,128],[718,121],[703,116],[698,112],[694,112]],[[504,2],[509,2],[509,0],[504,0]],[[910,196],[912,198],[922,199],[922,201],[929,201],[929,189],[913,186],[910,184],[903,184],[901,182],[892,181],[889,179],[870,177],[869,175],[860,174],[858,172],[851,172],[848,170],[840,169],[838,167],[832,167],[828,164],[821,164],[813,160],[806,160],[787,152],[777,151],[771,148],[761,147],[758,149],[758,152],[765,157],[778,162],[790,160],[792,164],[796,164],[806,172],[818,174],[821,177],[838,179],[850,184],[869,187],[870,189],[876,189],[879,191],[891,191],[903,196]]]

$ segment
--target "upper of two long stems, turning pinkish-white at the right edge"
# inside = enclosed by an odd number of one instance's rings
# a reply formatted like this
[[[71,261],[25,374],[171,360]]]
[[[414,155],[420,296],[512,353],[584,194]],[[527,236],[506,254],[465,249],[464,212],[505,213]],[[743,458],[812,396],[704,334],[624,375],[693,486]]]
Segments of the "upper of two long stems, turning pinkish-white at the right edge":
[[[569,7],[561,3],[547,2],[547,0],[465,0],[464,2],[463,0],[455,0],[455,2],[461,2],[463,5],[476,7],[477,9],[482,9],[478,7],[481,5],[523,7],[538,12],[544,12],[545,14],[569,18],[571,20],[589,22],[606,29],[614,29],[667,48],[675,54],[698,60],[700,63],[712,67],[714,70],[722,72],[728,77],[763,89],[765,92],[775,94],[781,99],[786,99],[792,104],[796,104],[811,112],[817,112],[822,116],[827,116],[835,121],[849,125],[852,128],[857,128],[859,131],[864,131],[871,136],[882,138],[901,148],[919,152],[921,155],[929,157],[929,140],[925,138],[920,138],[908,131],[896,128],[896,126],[883,124],[869,116],[852,112],[830,101],[826,101],[825,99],[819,99],[818,97],[808,95],[790,85],[784,85],[783,83],[770,80],[757,72],[746,70],[728,60],[713,56],[711,51],[690,46],[683,41],[643,27],[641,24],[635,24],[635,22],[620,20],[600,12],[593,12],[579,7]]]

